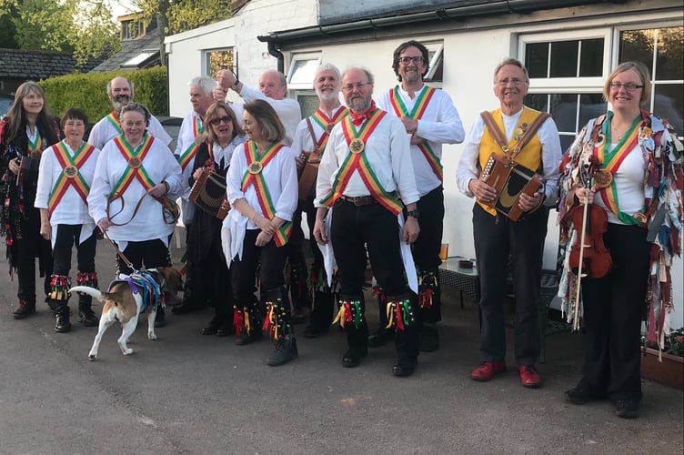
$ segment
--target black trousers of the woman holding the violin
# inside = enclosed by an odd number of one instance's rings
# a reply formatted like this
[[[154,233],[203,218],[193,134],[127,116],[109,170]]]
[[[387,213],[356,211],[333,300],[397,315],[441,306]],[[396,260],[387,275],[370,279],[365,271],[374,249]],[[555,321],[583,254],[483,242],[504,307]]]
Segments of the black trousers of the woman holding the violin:
[[[604,243],[612,268],[603,278],[582,278],[587,356],[582,374],[610,399],[641,399],[641,319],[649,279],[648,229],[609,224]]]

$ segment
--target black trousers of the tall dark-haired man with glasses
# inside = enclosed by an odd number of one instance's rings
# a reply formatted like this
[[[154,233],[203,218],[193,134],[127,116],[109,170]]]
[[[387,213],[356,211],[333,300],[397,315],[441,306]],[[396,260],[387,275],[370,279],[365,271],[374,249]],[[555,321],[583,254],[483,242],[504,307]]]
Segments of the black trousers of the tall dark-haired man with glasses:
[[[413,261],[418,274],[430,272],[437,278],[438,287],[432,298],[430,308],[418,309],[417,316],[421,322],[438,322],[442,320],[441,283],[439,282],[439,250],[442,247],[444,232],[444,188],[440,185],[417,202],[420,211],[418,224],[420,235],[411,246]]]

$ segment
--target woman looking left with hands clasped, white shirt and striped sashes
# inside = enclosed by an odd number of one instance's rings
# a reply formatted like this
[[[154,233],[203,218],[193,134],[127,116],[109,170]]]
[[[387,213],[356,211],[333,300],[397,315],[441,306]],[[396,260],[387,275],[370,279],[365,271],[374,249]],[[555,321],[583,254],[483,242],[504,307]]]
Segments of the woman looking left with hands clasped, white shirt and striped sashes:
[[[297,167],[282,143],[285,127],[266,101],[246,103],[242,122],[248,141],[237,147],[230,162],[227,194],[232,209],[222,231],[226,259],[232,260],[236,344],[258,339],[263,323],[276,343],[267,364],[278,366],[297,359],[283,276],[284,247],[297,208]],[[254,295],[257,266],[261,305]]]

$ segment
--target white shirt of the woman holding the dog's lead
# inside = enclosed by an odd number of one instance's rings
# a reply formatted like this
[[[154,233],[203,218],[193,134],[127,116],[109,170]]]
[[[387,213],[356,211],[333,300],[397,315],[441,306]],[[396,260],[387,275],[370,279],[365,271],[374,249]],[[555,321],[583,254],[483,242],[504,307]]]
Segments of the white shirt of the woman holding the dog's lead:
[[[182,189],[180,165],[178,165],[176,158],[169,153],[168,147],[158,139],[153,138],[152,146],[143,159],[142,167],[145,167],[147,175],[155,185],[166,180],[169,186],[169,194],[167,195],[169,198],[175,199],[180,196]],[[126,168],[128,168],[128,162],[116,147],[116,143],[114,141],[107,142],[97,159],[95,177],[88,195],[90,216],[96,222],[107,217],[107,198]],[[109,214],[114,217],[111,219],[112,222],[126,223],[124,226],[112,226],[107,230],[109,238],[115,240],[122,250],[126,249],[126,244],[129,241],[144,241],[155,238],[161,239],[168,246],[168,236],[174,231],[175,224],[167,224],[162,217],[162,206],[154,197],[145,195],[145,187],[134,177],[123,196],[126,204],[123,204],[122,198],[119,197],[112,201],[109,207]],[[134,217],[133,213],[141,198],[142,203]]]

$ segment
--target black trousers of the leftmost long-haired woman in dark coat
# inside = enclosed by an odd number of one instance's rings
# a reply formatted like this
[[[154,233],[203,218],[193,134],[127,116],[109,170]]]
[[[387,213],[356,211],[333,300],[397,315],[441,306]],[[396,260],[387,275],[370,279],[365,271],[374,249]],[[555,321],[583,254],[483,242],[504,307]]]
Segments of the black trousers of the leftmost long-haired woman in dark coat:
[[[37,212],[37,210],[35,210]],[[50,276],[53,274],[53,260],[50,254],[50,241],[38,234],[40,221],[29,215],[21,220],[23,238],[15,238],[14,248],[16,278],[18,286],[16,297],[35,303],[35,258],[39,258],[44,275],[45,295],[50,293]],[[9,248],[9,247],[8,247]]]

